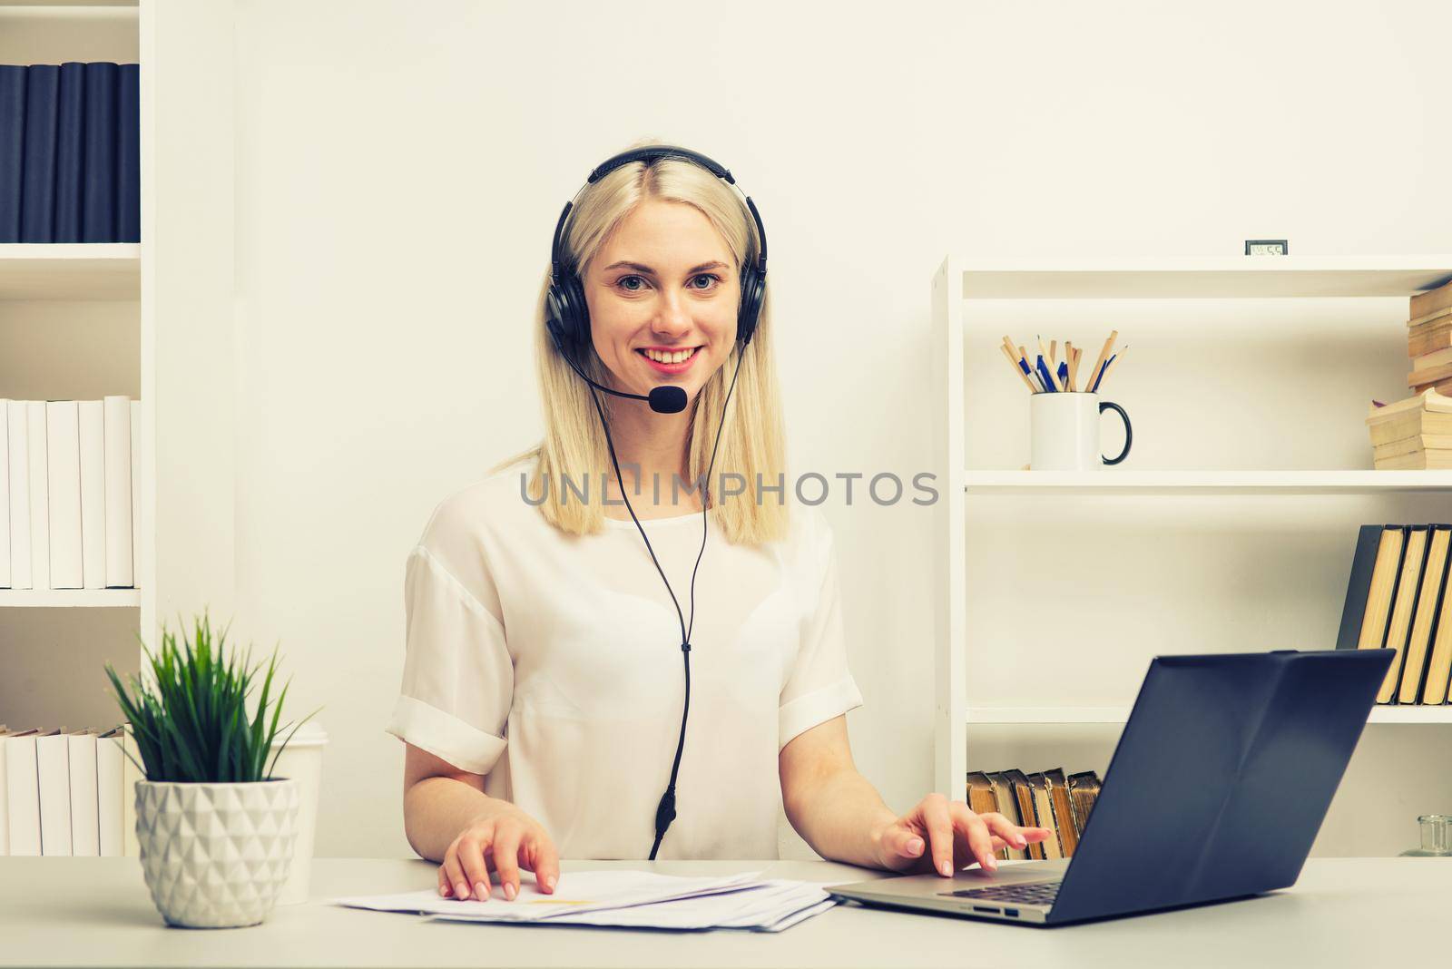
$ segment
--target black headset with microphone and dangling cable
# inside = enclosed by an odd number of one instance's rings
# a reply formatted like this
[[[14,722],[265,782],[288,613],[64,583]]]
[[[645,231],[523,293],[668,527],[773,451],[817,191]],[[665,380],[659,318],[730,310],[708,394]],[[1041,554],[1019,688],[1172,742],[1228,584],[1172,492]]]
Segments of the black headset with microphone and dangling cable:
[[[736,180],[732,178],[730,173],[723,165],[719,165],[706,155],[685,148],[677,148],[674,145],[648,145],[645,148],[635,148],[608,158],[590,173],[590,178],[585,186],[594,184],[603,176],[614,171],[620,165],[626,165],[633,161],[645,161],[649,164],[658,158],[681,158],[684,161],[694,162],[710,171],[717,178],[735,186],[736,191],[741,191],[741,186],[736,186]],[[581,187],[581,191],[584,191],[584,187]],[[575,199],[578,197],[579,193],[576,191]],[[756,223],[756,241],[759,242],[759,250],[756,252],[756,261],[754,264],[748,261],[741,270],[741,308],[736,312],[736,341],[741,347],[736,352],[736,371],[732,374],[730,387],[726,390],[726,400],[722,403],[722,422],[716,428],[716,444],[711,445],[711,460],[706,469],[706,482],[701,486],[701,551],[696,556],[696,569],[700,567],[701,554],[706,553],[710,477],[711,470],[716,467],[716,447],[722,441],[722,428],[726,426],[726,408],[730,403],[732,390],[736,387],[736,374],[741,373],[741,363],[746,357],[746,345],[756,332],[756,318],[761,313],[761,303],[767,293],[767,231],[761,225],[761,215],[756,212],[756,203],[754,203],[745,193],[742,193],[742,197],[746,200],[751,218]],[[550,245],[550,286],[546,294],[544,326],[555,339],[555,347],[559,350],[560,357],[565,358],[565,363],[568,363],[571,368],[591,387],[591,399],[595,402],[595,412],[600,415],[600,425],[605,432],[605,442],[610,447],[610,463],[614,464],[616,480],[620,483],[620,496],[624,499],[626,511],[630,512],[632,521],[635,521],[636,528],[640,531],[640,538],[645,540],[646,551],[650,553],[650,561],[655,563],[655,570],[661,573],[661,582],[665,583],[665,590],[669,593],[671,602],[675,603],[675,615],[681,621],[681,657],[685,664],[685,708],[681,711],[681,735],[675,741],[675,760],[671,763],[671,780],[665,788],[665,793],[661,795],[661,802],[655,809],[655,844],[650,847],[650,860],[653,862],[655,853],[661,850],[661,840],[665,837],[666,828],[669,828],[671,821],[675,820],[675,778],[681,769],[681,753],[685,749],[685,721],[691,712],[691,630],[696,627],[696,569],[691,569],[691,622],[687,625],[685,615],[681,612],[681,603],[675,598],[675,590],[671,589],[671,583],[665,577],[665,570],[661,569],[661,563],[655,557],[655,550],[650,548],[650,540],[646,537],[645,528],[640,527],[640,519],[636,518],[635,509],[630,506],[630,498],[626,495],[624,477],[620,474],[620,461],[616,458],[616,444],[610,437],[610,422],[605,421],[604,408],[600,406],[600,396],[595,395],[594,390],[604,390],[605,393],[617,397],[649,400],[650,409],[659,413],[677,413],[685,409],[687,400],[685,390],[681,387],[659,386],[652,389],[649,397],[605,387],[587,377],[585,371],[575,363],[574,357],[579,355],[582,358],[585,348],[588,348],[591,342],[590,309],[585,305],[585,287],[581,283],[575,267],[565,265],[560,251],[560,241],[565,238],[565,220],[569,216],[571,209],[575,206],[575,199],[565,203],[565,210],[559,213],[559,222],[555,225],[555,241]]]

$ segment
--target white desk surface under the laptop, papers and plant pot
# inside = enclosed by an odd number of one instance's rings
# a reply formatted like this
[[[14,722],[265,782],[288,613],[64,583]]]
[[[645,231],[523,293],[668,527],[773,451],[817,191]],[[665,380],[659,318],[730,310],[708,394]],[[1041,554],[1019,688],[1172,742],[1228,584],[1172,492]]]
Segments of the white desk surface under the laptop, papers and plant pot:
[[[423,860],[317,859],[302,905],[251,928],[168,928],[132,857],[0,857],[0,966],[1355,966],[1445,959],[1452,859],[1311,859],[1260,898],[1064,928],[838,905],[780,934],[428,923],[328,898],[436,888]],[[862,881],[826,862],[566,862],[566,870],[765,870]]]

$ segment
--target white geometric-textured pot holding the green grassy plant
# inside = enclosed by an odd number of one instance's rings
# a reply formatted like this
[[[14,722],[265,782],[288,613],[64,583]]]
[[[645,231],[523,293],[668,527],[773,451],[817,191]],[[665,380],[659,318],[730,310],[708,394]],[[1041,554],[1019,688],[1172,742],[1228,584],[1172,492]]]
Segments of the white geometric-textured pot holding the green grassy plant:
[[[168,925],[231,928],[267,917],[292,870],[298,782],[136,782],[136,841]]]

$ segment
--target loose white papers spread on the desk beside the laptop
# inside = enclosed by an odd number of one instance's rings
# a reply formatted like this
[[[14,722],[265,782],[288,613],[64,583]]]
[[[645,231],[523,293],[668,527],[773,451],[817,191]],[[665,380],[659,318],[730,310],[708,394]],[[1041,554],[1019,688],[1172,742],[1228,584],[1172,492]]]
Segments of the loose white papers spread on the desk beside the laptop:
[[[334,898],[334,905],[417,912],[446,921],[627,928],[749,928],[781,931],[831,908],[835,901],[812,882],[761,879],[759,872],[726,878],[680,878],[652,872],[566,872],[552,895],[529,879],[505,901],[495,885],[485,901],[440,898],[434,891]]]

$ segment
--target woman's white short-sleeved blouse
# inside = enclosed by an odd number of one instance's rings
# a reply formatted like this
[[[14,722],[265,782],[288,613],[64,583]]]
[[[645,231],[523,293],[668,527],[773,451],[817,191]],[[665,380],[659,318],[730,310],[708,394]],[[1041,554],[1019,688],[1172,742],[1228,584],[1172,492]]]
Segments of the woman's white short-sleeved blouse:
[[[607,518],[585,537],[553,528],[524,500],[529,467],[444,499],[409,553],[407,657],[386,731],[485,775],[485,793],[543,824],[560,857],[645,859],[681,730],[675,606],[635,522]],[[862,704],[832,532],[812,506],[793,505],[790,522],[786,540],[762,545],[710,529],[661,859],[777,857],[777,754]],[[640,524],[690,624],[701,515]]]

